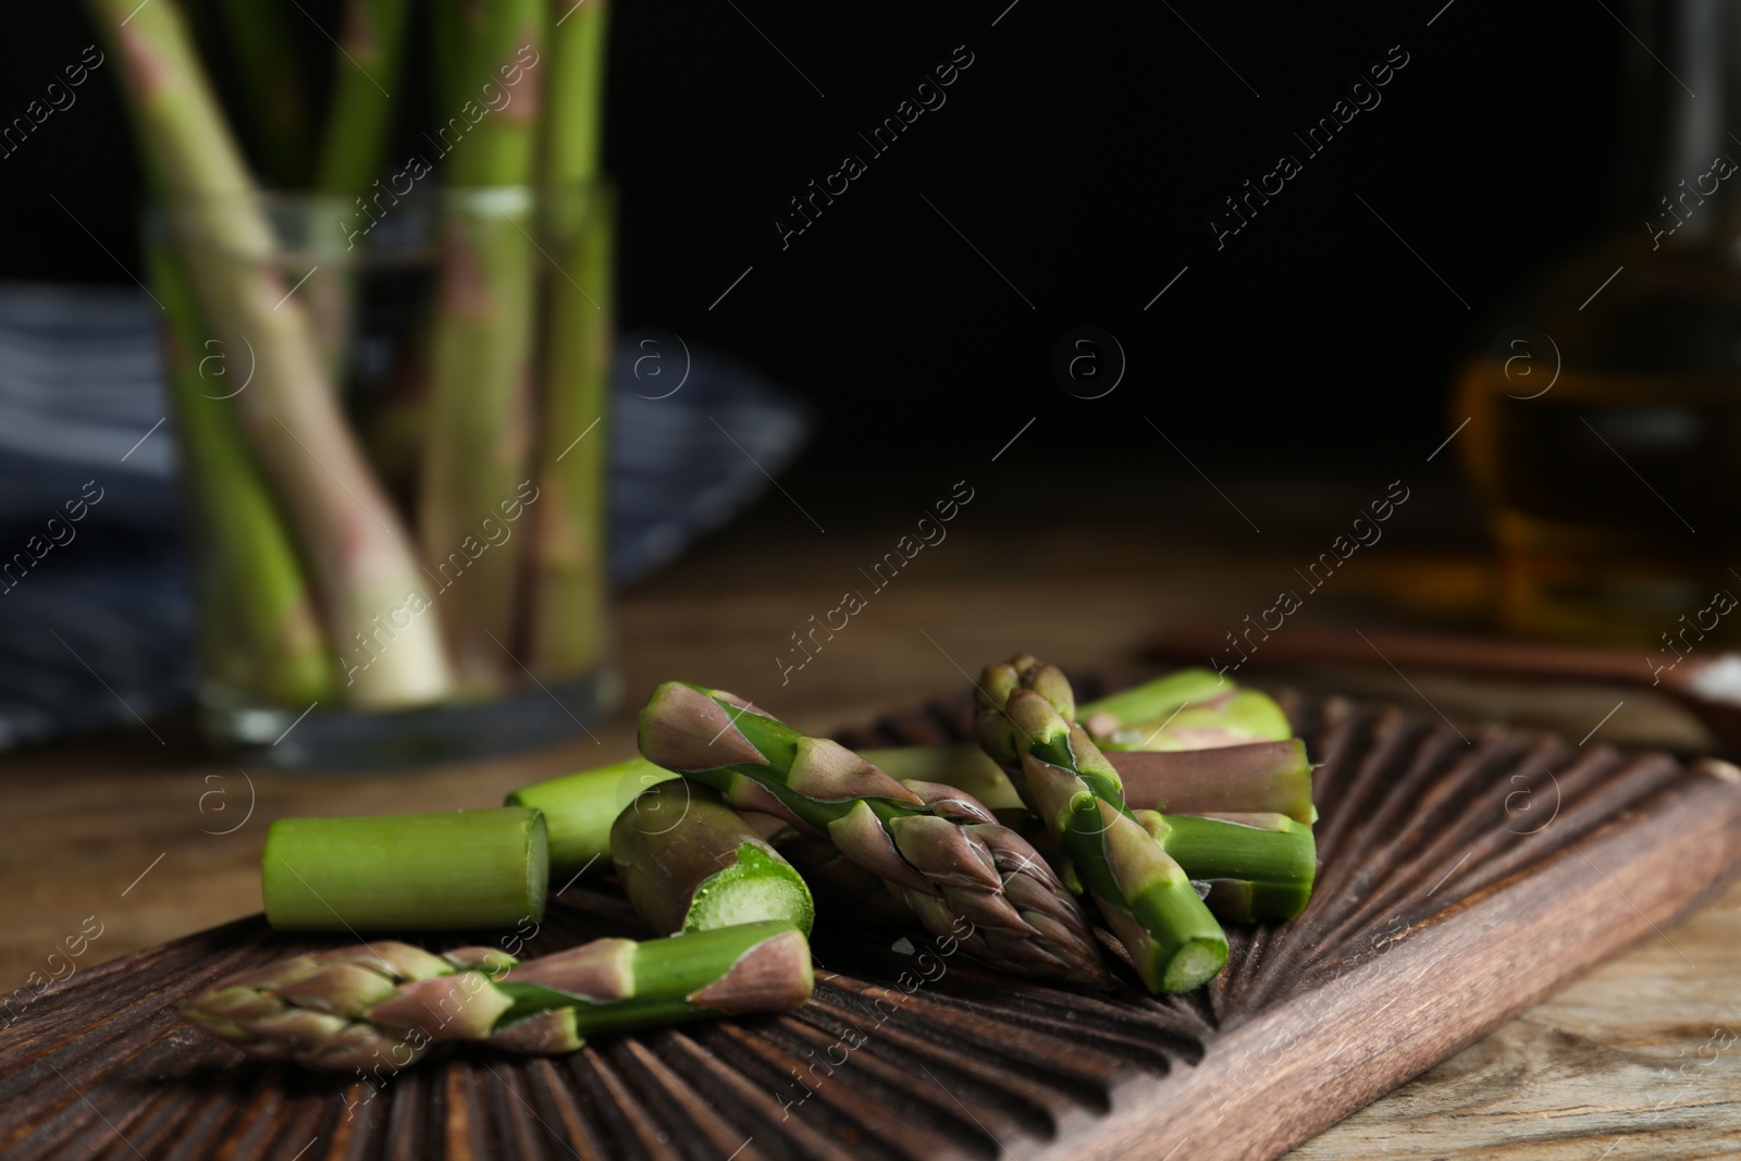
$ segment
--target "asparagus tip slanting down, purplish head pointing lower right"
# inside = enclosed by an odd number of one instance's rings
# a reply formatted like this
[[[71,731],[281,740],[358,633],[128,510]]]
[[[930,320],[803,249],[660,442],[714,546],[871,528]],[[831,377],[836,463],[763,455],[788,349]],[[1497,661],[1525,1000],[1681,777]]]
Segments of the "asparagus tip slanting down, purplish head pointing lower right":
[[[714,787],[740,811],[827,836],[886,881],[926,929],[987,963],[1090,987],[1109,982],[1057,876],[959,790],[900,783],[846,747],[684,682],[658,686],[642,707],[641,754]]]

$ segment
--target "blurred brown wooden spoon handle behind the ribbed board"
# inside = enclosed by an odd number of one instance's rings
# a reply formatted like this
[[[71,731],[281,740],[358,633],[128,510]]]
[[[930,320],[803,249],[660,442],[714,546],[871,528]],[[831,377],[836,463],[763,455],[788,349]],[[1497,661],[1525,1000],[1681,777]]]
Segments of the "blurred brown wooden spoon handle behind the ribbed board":
[[[1617,649],[1590,649],[1534,641],[1450,637],[1440,634],[1365,632],[1346,628],[1302,628],[1283,625],[1264,637],[1262,630],[1234,634],[1240,649],[1255,663],[1351,661],[1442,668],[1489,677],[1551,677],[1556,681],[1600,681],[1649,686],[1647,656]],[[1147,653],[1165,658],[1240,661],[1226,634],[1212,630],[1168,630],[1154,637]]]

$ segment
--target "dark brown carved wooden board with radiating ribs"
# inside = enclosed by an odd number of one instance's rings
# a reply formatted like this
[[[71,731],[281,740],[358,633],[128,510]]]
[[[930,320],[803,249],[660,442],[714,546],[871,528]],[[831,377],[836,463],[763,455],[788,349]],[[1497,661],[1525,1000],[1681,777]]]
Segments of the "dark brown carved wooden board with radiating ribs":
[[[1233,929],[1194,996],[1018,983],[825,917],[796,1015],[554,1060],[461,1051],[371,1090],[174,1015],[223,975],[355,942],[245,919],[82,971],[0,1030],[0,1158],[1273,1158],[1650,936],[1741,856],[1734,768],[1283,701],[1323,762],[1320,886],[1301,919]],[[844,740],[965,726],[965,703],[933,705]],[[550,912],[528,954],[634,931],[609,888]]]

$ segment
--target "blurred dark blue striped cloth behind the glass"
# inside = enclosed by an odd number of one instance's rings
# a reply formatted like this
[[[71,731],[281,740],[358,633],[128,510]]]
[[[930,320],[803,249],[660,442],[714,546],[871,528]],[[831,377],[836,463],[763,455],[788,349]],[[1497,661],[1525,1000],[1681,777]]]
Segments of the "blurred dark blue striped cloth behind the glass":
[[[0,748],[148,722],[193,693],[157,325],[136,291],[0,284]],[[625,585],[742,512],[810,414],[669,332],[630,336],[615,366],[611,580]]]

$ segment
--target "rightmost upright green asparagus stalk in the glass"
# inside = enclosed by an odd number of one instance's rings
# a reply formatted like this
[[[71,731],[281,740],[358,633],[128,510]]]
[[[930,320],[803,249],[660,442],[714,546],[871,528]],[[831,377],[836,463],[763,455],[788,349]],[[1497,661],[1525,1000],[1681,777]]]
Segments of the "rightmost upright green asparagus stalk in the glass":
[[[541,188],[552,268],[529,621],[533,670],[566,677],[606,654],[615,205],[599,183],[608,0],[548,5]]]

